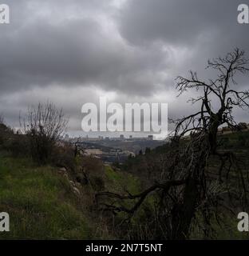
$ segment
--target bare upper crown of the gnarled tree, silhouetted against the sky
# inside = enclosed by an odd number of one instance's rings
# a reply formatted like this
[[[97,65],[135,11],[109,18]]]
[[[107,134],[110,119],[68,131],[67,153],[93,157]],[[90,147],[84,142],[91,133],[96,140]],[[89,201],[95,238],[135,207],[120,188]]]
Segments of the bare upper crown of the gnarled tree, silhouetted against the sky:
[[[198,98],[192,98],[192,102],[201,102],[200,110],[186,118],[182,118],[176,126],[176,134],[183,136],[191,130],[204,130],[209,135],[209,144],[212,153],[215,153],[217,147],[218,127],[224,123],[231,129],[238,129],[235,119],[232,116],[232,110],[235,106],[239,108],[248,108],[249,90],[235,90],[235,74],[245,74],[249,69],[248,60],[244,58],[243,50],[235,49],[227,54],[225,58],[215,58],[208,61],[207,68],[218,70],[218,76],[215,79],[209,79],[208,82],[200,80],[196,72],[190,71],[190,78],[178,77],[176,89],[180,94],[186,90],[202,90],[203,95]],[[218,99],[219,108],[214,110],[211,106],[211,100]],[[191,126],[192,125],[192,126]]]

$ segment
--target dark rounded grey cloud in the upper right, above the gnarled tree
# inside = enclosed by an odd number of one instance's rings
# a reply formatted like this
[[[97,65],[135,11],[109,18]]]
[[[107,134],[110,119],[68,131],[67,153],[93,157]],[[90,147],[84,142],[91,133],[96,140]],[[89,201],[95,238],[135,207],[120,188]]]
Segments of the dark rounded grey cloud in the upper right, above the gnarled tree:
[[[127,1],[117,21],[123,38],[136,46],[162,42],[176,49],[178,72],[198,70],[208,58],[239,47],[249,54],[249,26],[237,22],[240,0]],[[185,49],[185,55],[177,51]],[[190,54],[188,54],[190,53]]]

